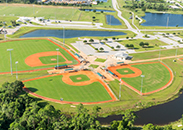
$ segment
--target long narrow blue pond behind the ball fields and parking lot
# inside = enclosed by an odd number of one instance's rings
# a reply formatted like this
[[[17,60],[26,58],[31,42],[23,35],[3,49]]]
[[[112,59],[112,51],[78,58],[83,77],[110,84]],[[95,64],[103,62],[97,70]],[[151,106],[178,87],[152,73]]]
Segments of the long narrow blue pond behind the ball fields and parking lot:
[[[123,32],[117,31],[89,31],[89,30],[65,30],[65,38],[95,36],[95,37],[108,37],[126,35]],[[36,30],[20,36],[24,37],[58,37],[63,38],[63,30]]]

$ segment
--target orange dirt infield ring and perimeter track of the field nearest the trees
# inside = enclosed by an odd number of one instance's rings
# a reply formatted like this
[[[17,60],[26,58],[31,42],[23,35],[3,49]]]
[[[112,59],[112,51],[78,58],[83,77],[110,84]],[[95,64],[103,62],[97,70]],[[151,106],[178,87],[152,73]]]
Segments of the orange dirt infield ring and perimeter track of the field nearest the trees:
[[[73,75],[79,75],[79,74],[84,74],[87,75],[89,78],[91,78],[89,81],[83,81],[83,82],[79,82],[79,83],[75,83],[73,82],[69,77],[73,76]],[[24,90],[26,92],[28,92],[29,94],[41,98],[43,100],[47,100],[47,101],[51,101],[51,102],[56,102],[56,103],[61,103],[61,104],[84,104],[84,105],[91,105],[91,104],[100,104],[100,103],[107,103],[107,102],[113,102],[116,101],[117,98],[115,97],[115,95],[113,94],[113,92],[111,91],[111,89],[97,76],[95,75],[93,72],[91,71],[79,71],[79,72],[74,72],[74,73],[63,73],[63,74],[53,74],[53,75],[46,75],[46,76],[42,76],[42,77],[37,77],[37,78],[33,78],[33,79],[28,79],[28,80],[24,80],[22,82],[28,82],[28,81],[32,81],[32,80],[37,80],[37,79],[42,79],[42,78],[46,78],[46,77],[52,77],[52,76],[58,76],[58,75],[63,75],[62,80],[64,82],[66,82],[67,84],[70,85],[87,85],[87,84],[91,84],[93,82],[100,82],[104,88],[106,89],[106,91],[108,92],[108,94],[111,96],[112,100],[107,100],[107,101],[99,101],[99,102],[71,102],[71,101],[60,101],[60,100],[56,100],[56,99],[52,99],[52,98],[48,98],[48,97],[43,97],[41,95],[38,95],[36,93],[33,93],[32,91],[30,91],[28,88],[26,88],[24,86]],[[65,77],[65,78],[64,78]],[[68,82],[69,81],[69,82]],[[71,81],[71,82],[70,82]],[[97,90],[96,90],[97,91]]]

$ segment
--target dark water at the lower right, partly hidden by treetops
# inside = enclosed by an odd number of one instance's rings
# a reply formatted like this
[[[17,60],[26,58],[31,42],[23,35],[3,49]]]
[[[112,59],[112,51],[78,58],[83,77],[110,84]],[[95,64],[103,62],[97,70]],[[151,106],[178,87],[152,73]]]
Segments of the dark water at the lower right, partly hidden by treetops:
[[[183,114],[183,94],[173,101],[158,106],[135,112],[137,119],[135,125],[144,125],[153,123],[156,125],[164,125],[173,121],[177,121]],[[106,118],[98,118],[101,124],[109,124],[113,120],[121,120],[122,115],[111,115]]]

